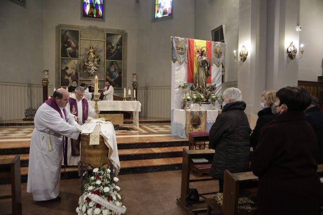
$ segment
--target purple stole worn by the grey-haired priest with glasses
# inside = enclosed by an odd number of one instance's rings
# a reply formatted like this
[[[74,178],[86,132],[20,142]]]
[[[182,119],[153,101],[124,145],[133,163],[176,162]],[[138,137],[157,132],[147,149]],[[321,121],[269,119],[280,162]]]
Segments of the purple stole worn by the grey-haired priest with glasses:
[[[88,119],[89,113],[89,104],[86,99],[82,99],[82,124]],[[70,113],[78,116],[78,108],[76,100],[69,97],[69,110]],[[81,134],[78,136],[77,140],[70,139],[71,144],[71,155],[72,156],[79,156],[80,155],[80,142],[81,142]]]

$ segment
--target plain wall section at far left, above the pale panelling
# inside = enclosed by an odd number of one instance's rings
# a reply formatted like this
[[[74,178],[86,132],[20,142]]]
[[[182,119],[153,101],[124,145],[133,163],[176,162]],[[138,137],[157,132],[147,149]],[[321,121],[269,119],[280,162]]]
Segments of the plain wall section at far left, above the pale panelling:
[[[40,84],[44,70],[44,2],[26,8],[2,0],[0,6],[0,81]]]

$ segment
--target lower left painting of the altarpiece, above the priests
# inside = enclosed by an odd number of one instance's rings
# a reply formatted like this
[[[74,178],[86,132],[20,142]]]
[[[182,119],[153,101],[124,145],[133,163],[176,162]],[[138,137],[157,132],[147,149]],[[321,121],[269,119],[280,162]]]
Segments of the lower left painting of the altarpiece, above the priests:
[[[62,87],[71,86],[73,80],[78,83],[78,68],[78,60],[61,59],[60,81]]]

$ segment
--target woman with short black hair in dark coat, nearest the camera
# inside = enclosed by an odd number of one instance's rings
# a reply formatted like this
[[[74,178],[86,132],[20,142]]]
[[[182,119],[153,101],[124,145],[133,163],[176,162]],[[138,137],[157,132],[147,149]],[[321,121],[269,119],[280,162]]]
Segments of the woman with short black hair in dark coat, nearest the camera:
[[[252,156],[251,168],[259,177],[257,214],[318,215],[318,143],[303,113],[310,96],[305,89],[288,86],[276,97],[279,115],[262,129]]]

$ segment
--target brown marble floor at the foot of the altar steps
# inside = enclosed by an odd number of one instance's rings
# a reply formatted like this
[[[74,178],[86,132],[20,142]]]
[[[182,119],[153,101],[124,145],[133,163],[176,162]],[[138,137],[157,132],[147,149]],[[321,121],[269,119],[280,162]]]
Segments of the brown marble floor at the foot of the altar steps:
[[[149,172],[119,175],[122,203],[127,215],[186,215],[176,199],[181,194],[182,171]],[[199,193],[218,191],[217,181],[193,183]],[[10,185],[0,185],[2,194],[10,193]],[[35,202],[22,184],[23,215],[75,215],[80,192],[80,179],[61,180],[60,202]],[[11,213],[9,199],[0,199],[0,214]],[[200,213],[199,215],[205,215]]]

